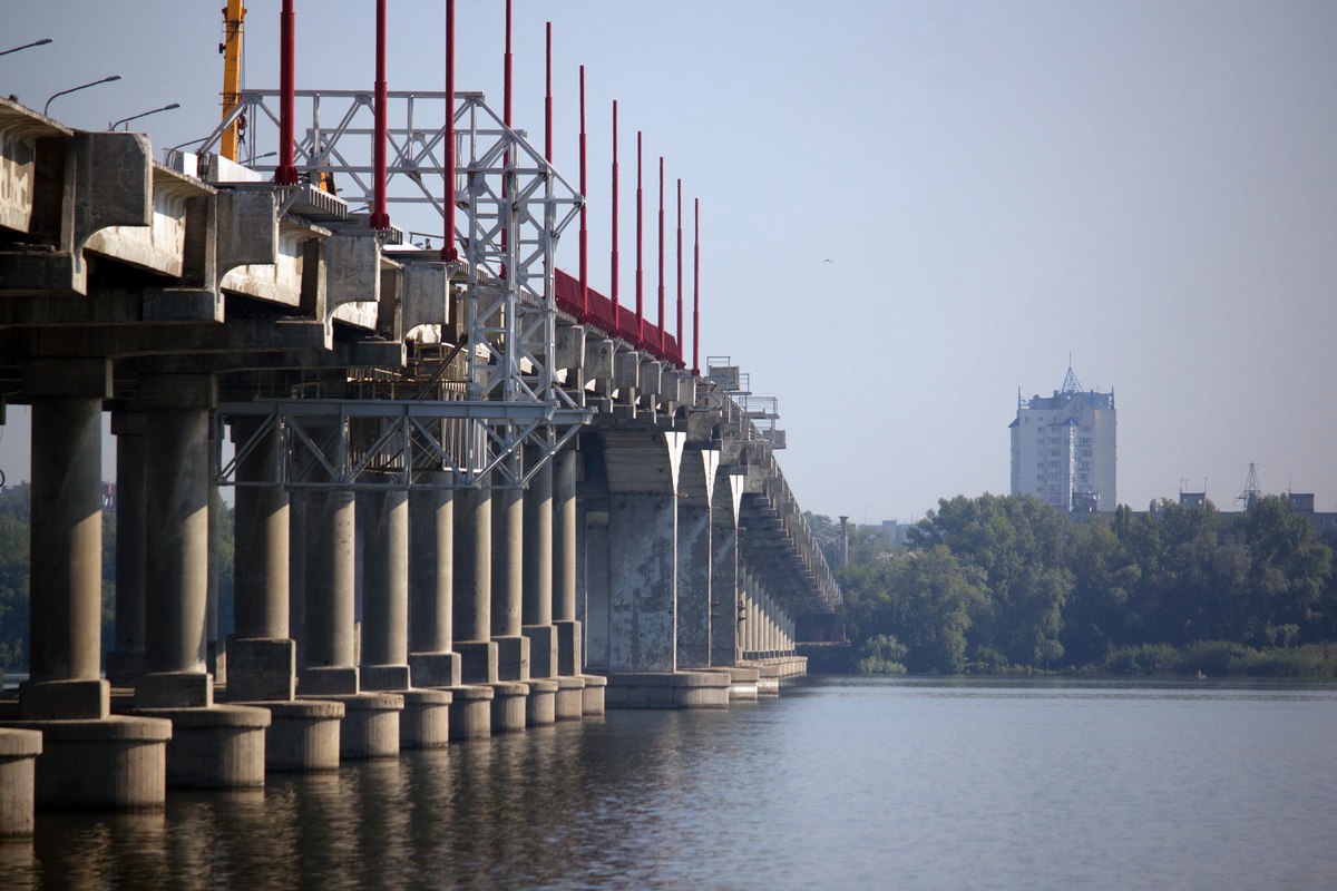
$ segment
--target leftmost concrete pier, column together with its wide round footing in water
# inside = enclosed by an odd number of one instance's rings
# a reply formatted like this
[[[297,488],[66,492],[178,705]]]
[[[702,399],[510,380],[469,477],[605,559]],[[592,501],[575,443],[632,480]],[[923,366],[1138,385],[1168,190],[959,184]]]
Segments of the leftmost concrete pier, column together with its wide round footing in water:
[[[19,688],[20,721],[7,725],[43,735],[33,772],[39,808],[160,808],[166,797],[171,724],[112,717],[111,687],[99,677],[100,414],[110,383],[99,359],[25,369],[33,401],[31,675]],[[17,799],[21,788],[0,792]]]

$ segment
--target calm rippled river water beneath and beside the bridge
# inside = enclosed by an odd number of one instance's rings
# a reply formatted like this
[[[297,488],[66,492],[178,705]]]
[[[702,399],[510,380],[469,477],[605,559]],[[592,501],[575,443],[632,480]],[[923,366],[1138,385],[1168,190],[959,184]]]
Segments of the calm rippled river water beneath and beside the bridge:
[[[39,815],[0,888],[1334,888],[1337,687],[828,679],[156,815]]]

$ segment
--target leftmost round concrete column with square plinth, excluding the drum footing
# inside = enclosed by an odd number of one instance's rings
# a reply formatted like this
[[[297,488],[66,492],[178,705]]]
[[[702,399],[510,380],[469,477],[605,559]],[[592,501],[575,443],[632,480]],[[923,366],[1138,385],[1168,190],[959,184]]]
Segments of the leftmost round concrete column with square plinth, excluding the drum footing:
[[[110,712],[102,655],[102,398],[32,402],[29,680],[24,719]]]

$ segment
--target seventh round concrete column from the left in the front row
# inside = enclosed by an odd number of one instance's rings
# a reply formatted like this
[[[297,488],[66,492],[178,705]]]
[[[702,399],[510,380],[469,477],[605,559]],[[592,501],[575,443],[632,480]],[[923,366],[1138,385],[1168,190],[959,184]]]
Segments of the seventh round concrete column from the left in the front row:
[[[455,494],[455,649],[465,684],[497,680],[492,643],[492,490]]]

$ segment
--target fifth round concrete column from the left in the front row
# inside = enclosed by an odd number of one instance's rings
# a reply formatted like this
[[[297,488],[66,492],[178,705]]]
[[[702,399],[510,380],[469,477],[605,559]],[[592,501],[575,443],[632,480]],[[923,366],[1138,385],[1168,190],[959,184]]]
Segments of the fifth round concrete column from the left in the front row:
[[[362,494],[362,689],[409,683],[409,498],[396,489]]]

